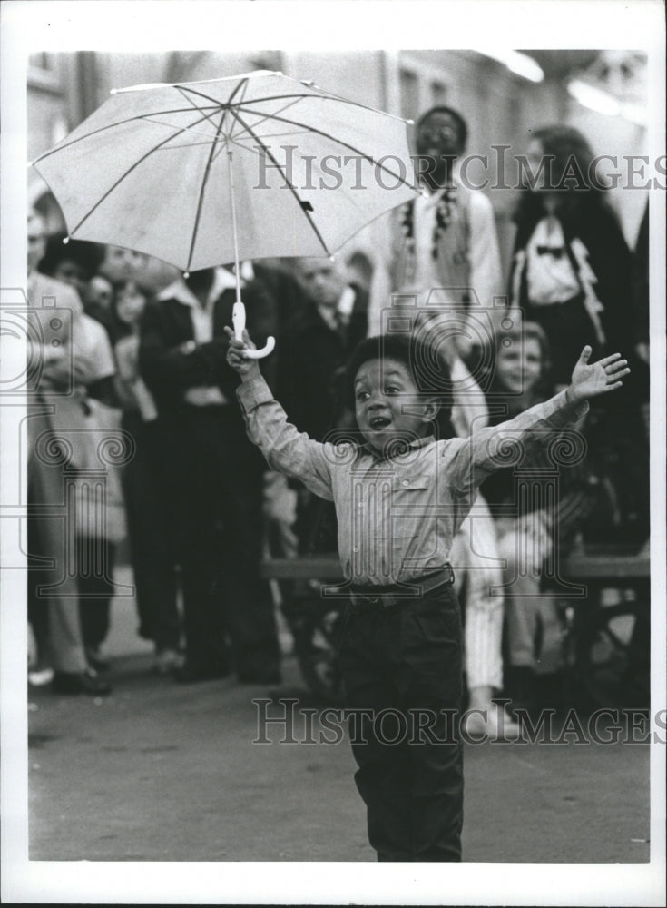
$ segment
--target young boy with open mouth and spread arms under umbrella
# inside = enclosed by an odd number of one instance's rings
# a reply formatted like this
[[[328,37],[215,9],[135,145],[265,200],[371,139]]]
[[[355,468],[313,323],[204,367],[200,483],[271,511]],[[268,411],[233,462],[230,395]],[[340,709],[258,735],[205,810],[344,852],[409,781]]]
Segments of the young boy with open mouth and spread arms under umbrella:
[[[626,360],[617,353],[589,365],[584,347],[567,390],[469,439],[436,441],[437,400],[420,393],[415,377],[429,351],[405,336],[369,338],[349,363],[359,443],[320,444],[288,423],[257,360],[244,357],[254,346],[247,332],[235,341],[226,331],[250,439],[271,469],[336,505],[350,603],[339,663],[358,719],[352,749],[370,844],[378,861],[460,861],[461,621],[447,561],[452,539],[482,480],[517,449],[529,456],[580,419],[588,398],[619,388]]]

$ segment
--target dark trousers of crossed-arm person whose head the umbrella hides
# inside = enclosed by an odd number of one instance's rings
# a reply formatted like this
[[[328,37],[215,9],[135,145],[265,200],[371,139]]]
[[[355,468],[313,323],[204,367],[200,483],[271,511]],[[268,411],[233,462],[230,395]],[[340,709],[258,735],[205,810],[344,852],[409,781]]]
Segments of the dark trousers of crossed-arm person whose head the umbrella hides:
[[[260,577],[263,459],[231,407],[192,407],[179,436],[180,560],[188,661],[240,676],[278,666],[273,601]]]

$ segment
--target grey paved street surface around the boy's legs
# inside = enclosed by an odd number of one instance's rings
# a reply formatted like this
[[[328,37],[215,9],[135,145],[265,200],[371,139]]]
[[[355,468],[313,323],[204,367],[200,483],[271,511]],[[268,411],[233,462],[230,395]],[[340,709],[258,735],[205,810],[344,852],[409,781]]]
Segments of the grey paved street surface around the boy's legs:
[[[152,674],[134,625],[132,600],[116,599],[112,696],[30,692],[31,859],[374,859],[347,741],[253,744],[253,698],[319,706],[291,656],[273,690],[179,686]],[[319,727],[316,713],[316,737]],[[648,860],[647,745],[486,743],[466,745],[465,759],[466,861]]]

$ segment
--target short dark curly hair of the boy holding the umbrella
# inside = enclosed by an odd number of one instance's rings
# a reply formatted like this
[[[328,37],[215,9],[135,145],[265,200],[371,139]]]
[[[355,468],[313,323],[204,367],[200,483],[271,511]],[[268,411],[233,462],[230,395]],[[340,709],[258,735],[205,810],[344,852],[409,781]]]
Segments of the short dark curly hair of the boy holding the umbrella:
[[[434,360],[437,359],[434,369]],[[412,376],[417,390],[425,397],[436,397],[439,404],[438,425],[448,425],[452,410],[452,382],[446,361],[434,347],[414,335],[392,332],[366,338],[352,350],[345,370],[348,405],[355,409],[354,381],[358,370],[369,360],[397,360]],[[436,380],[434,380],[436,375]]]

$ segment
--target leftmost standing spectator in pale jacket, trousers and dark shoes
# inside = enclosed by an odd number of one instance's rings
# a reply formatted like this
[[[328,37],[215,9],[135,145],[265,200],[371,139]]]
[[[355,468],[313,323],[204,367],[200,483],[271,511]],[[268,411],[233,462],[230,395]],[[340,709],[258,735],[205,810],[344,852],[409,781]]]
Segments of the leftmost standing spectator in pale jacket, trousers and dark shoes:
[[[45,238],[44,222],[34,212],[28,216],[28,234],[28,303],[39,367],[39,383],[28,409],[28,617],[36,644],[30,675],[34,682],[44,683],[53,666],[55,692],[100,696],[111,688],[87,663],[79,578],[69,569],[73,513],[68,509],[64,518],[58,513],[66,501],[64,467],[76,468],[83,462],[80,447],[70,444],[87,429],[84,364],[73,356],[75,326],[83,307],[72,287],[35,270]]]

